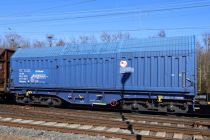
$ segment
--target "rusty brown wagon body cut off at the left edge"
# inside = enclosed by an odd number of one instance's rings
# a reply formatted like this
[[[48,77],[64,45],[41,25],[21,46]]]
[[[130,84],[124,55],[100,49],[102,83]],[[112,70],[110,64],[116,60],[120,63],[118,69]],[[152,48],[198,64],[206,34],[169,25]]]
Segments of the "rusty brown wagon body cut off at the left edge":
[[[13,53],[14,50],[0,48],[0,93],[7,92],[10,57]]]

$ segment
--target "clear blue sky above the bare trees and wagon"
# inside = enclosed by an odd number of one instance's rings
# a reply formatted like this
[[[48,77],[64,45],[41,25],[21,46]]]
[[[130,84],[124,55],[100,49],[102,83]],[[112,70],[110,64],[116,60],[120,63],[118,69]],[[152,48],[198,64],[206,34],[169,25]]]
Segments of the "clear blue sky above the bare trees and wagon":
[[[101,32],[129,32],[134,37],[210,32],[210,0],[1,0],[0,36],[16,32],[45,39],[68,39]]]

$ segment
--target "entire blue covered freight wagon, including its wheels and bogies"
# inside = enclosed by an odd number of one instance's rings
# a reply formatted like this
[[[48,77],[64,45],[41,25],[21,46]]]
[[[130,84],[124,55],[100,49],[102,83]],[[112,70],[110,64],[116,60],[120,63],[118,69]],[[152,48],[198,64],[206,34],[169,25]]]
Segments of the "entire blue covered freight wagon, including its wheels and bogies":
[[[11,58],[10,89],[19,103],[186,112],[196,73],[194,36],[21,48]]]

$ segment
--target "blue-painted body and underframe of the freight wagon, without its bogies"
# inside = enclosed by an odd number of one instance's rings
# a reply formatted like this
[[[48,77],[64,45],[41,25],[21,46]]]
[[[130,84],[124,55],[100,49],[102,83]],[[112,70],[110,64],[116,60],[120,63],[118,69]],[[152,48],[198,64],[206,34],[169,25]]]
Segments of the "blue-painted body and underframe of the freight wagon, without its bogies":
[[[149,98],[156,93],[170,96],[167,99],[193,98],[197,81],[195,53],[194,37],[18,49],[11,59],[11,88],[14,91],[48,89],[49,92],[59,89],[56,96],[78,104],[91,104],[97,93],[71,93],[75,99],[69,100],[69,93],[60,92],[96,90],[103,94],[103,99],[94,102],[109,103],[114,98],[120,99],[120,93],[115,97],[107,91],[122,89],[120,61],[126,60],[127,68],[133,72],[125,84],[125,90],[131,91],[129,98]]]

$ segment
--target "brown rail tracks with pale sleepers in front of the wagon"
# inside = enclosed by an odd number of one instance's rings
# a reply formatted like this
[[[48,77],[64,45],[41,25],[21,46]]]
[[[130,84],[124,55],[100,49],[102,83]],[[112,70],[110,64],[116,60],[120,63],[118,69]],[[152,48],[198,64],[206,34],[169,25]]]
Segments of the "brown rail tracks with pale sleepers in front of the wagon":
[[[206,125],[207,124],[207,125]],[[209,139],[210,120],[173,115],[1,105],[0,125],[122,139]]]

